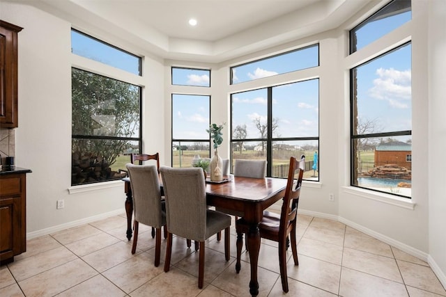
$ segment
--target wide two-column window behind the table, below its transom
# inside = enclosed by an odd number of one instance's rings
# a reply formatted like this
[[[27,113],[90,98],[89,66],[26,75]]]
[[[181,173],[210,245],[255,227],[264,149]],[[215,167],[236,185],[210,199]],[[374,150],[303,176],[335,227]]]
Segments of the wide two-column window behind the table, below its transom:
[[[317,181],[318,102],[318,79],[232,94],[231,160],[266,159],[268,176],[287,177],[290,156],[304,154]]]

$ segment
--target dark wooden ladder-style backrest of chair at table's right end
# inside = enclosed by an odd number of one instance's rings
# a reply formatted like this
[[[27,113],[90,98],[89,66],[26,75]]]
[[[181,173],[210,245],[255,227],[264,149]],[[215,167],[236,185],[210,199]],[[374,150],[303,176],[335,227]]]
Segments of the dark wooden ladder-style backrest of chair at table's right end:
[[[287,236],[286,229],[289,225],[295,223],[298,214],[298,203],[300,196],[300,186],[305,171],[305,156],[302,154],[300,160],[294,156],[290,158],[290,168],[288,172],[288,181],[284,195],[284,203],[280,213],[279,237]]]

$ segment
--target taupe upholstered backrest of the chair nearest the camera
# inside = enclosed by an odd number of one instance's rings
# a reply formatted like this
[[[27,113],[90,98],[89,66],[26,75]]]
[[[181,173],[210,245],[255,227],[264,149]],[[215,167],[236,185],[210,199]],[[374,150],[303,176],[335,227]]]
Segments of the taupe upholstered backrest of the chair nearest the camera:
[[[186,239],[206,240],[206,183],[201,168],[161,166],[167,230]]]

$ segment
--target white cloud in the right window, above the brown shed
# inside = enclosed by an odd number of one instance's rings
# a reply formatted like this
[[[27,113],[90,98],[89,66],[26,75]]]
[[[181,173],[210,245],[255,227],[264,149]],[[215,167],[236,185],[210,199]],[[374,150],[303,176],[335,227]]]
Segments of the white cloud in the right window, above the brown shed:
[[[389,105],[396,109],[407,109],[407,100],[412,97],[411,72],[410,70],[399,71],[393,68],[376,70],[377,79],[374,86],[369,89],[371,97],[386,100]]]

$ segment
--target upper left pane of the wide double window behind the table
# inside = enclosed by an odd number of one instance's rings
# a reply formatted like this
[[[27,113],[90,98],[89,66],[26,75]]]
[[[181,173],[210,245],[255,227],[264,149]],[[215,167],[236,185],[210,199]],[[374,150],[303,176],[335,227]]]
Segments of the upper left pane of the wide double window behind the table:
[[[267,89],[232,94],[231,102],[232,137],[266,138],[268,134]]]

